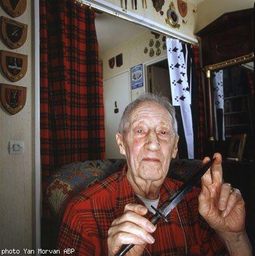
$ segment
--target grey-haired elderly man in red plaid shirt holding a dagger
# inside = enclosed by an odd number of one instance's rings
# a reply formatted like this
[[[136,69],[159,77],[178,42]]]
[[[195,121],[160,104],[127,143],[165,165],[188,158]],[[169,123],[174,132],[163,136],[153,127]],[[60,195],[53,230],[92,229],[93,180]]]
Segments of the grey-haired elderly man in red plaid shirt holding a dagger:
[[[157,226],[148,220],[181,186],[167,178],[177,153],[177,125],[170,103],[145,94],[125,108],[116,134],[127,166],[83,191],[68,205],[58,249],[79,255],[116,255],[123,244],[135,244],[128,255],[251,255],[245,232],[245,204],[239,190],[222,183],[222,157]],[[203,164],[209,158],[203,160]],[[198,213],[199,212],[199,213]],[[205,221],[204,221],[205,220]],[[211,227],[210,227],[211,226]]]

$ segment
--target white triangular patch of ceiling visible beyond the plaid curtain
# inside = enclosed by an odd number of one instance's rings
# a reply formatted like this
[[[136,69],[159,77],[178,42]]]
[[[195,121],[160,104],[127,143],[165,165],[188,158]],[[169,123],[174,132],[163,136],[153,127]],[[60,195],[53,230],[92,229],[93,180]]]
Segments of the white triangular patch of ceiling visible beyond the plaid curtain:
[[[148,30],[108,13],[97,15],[95,25],[101,54]]]

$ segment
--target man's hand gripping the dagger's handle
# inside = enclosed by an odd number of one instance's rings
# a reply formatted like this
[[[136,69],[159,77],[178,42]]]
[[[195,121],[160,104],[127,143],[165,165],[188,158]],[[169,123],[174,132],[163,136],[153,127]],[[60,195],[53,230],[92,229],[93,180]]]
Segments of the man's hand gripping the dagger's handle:
[[[147,243],[154,243],[150,233],[156,227],[143,215],[148,209],[141,204],[127,204],[121,217],[114,219],[108,230],[108,255],[115,255],[123,244],[136,244],[127,255],[141,255]]]

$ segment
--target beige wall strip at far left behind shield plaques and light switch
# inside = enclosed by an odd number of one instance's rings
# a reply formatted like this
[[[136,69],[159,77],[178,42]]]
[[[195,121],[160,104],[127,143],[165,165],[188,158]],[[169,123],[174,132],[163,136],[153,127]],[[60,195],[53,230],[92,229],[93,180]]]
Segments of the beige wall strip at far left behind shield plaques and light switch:
[[[21,112],[10,115],[0,109],[0,248],[32,249],[33,196],[33,75],[32,75],[32,1],[23,15],[14,18],[28,24],[26,43],[12,50],[0,41],[0,49],[28,55],[27,74],[18,82],[0,75],[1,83],[27,87],[27,101]],[[11,18],[0,7],[0,15]],[[23,140],[24,154],[9,155],[9,140]],[[21,251],[21,255],[23,251]]]

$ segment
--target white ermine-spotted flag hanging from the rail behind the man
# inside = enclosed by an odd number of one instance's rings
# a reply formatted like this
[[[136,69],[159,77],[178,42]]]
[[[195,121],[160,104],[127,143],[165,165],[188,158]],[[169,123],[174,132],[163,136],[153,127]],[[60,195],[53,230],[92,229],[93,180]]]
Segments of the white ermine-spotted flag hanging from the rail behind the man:
[[[188,158],[194,158],[194,134],[191,114],[191,84],[187,79],[187,66],[183,45],[178,39],[167,38],[167,60],[169,65],[170,84],[173,106],[180,106],[184,134],[187,143]],[[184,46],[186,47],[186,46]],[[187,51],[185,51],[187,54]],[[187,59],[187,57],[186,57]]]

